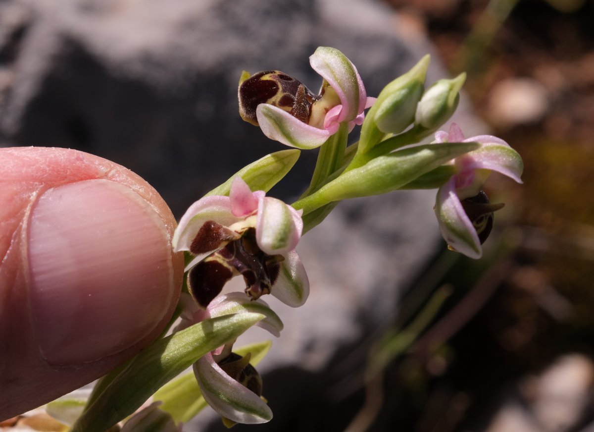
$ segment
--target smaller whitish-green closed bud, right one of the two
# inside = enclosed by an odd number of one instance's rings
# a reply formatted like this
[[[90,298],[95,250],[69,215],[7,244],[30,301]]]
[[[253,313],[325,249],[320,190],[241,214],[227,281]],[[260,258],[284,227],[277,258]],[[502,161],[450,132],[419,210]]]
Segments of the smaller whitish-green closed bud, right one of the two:
[[[416,106],[415,125],[428,131],[443,125],[456,111],[465,80],[466,73],[463,72],[453,80],[439,80],[429,87]]]

